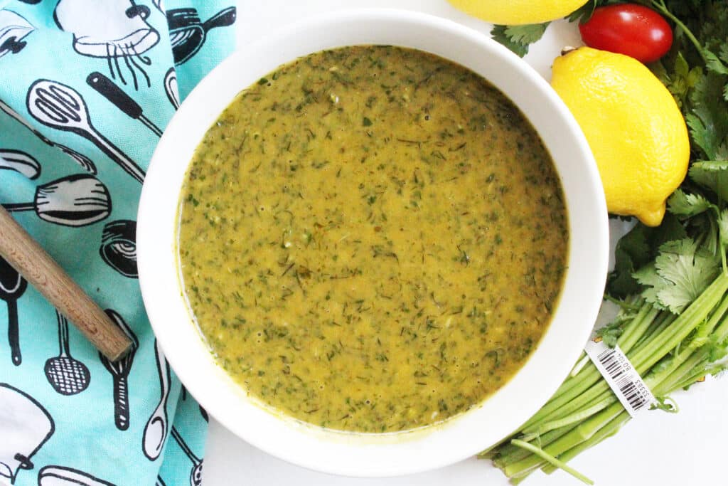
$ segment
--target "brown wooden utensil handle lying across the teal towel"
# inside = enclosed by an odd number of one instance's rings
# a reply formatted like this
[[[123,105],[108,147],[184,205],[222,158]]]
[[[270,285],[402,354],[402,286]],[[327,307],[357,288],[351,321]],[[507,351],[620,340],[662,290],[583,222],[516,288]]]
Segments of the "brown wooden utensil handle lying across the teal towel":
[[[20,224],[0,207],[0,255],[111,361],[131,341]]]

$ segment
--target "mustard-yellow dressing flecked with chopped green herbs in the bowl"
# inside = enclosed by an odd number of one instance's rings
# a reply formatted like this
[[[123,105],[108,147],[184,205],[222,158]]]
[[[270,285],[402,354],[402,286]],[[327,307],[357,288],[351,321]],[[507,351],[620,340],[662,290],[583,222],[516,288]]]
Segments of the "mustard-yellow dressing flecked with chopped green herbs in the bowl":
[[[521,112],[399,47],[318,52],[240,93],[180,215],[183,288],[221,367],[346,431],[427,426],[498,390],[550,323],[569,246]]]

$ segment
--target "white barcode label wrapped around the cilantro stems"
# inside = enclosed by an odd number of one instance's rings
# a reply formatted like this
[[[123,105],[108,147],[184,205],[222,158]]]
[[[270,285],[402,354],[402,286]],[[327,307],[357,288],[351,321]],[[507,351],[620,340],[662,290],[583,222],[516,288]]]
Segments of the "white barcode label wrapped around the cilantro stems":
[[[612,388],[622,406],[632,417],[640,410],[648,409],[649,405],[656,401],[619,346],[609,348],[602,341],[590,340],[585,350],[604,376],[609,388]]]

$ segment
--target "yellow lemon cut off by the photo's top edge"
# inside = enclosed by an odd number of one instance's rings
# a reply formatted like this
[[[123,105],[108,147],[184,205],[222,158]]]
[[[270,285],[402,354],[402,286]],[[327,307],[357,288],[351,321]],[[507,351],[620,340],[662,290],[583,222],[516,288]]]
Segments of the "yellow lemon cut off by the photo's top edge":
[[[517,26],[569,15],[586,0],[448,0],[454,7],[490,23]]]

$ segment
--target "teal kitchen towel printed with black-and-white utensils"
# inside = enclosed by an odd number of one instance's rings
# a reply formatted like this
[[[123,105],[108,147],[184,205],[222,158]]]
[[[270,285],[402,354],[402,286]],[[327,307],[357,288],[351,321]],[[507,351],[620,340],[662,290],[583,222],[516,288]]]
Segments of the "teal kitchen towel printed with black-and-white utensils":
[[[107,361],[0,259],[0,483],[201,482],[207,414],[151,332],[135,219],[159,136],[232,51],[236,12],[165,3],[0,0],[0,203],[135,343]]]

